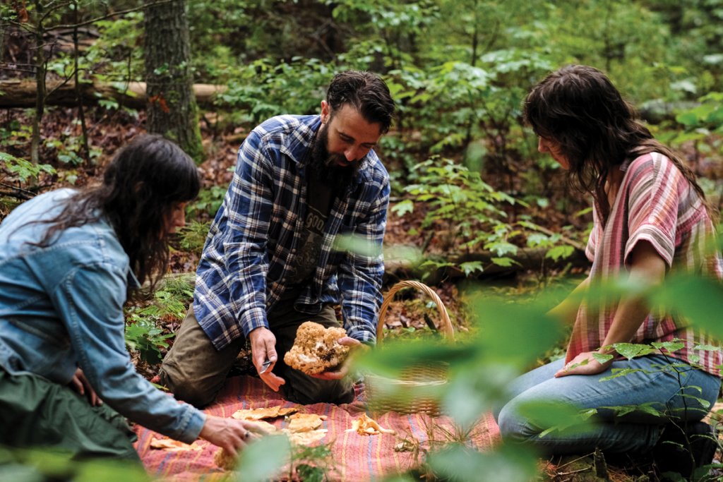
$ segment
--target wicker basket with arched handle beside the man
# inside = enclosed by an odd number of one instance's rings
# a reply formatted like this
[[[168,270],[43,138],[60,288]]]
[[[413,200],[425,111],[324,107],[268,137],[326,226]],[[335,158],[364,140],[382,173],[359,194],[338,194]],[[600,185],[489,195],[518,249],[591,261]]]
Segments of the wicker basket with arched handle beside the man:
[[[384,298],[379,312],[377,324],[377,345],[382,345],[385,317],[394,295],[403,288],[416,288],[426,293],[437,304],[441,323],[437,327],[445,337],[452,340],[454,330],[447,309],[437,293],[418,281],[401,281],[392,286]],[[429,413],[435,416],[440,413],[439,403],[435,397],[425,396],[424,392],[439,390],[441,385],[447,383],[447,364],[429,363],[408,366],[401,371],[399,379],[390,379],[376,374],[367,374],[365,385],[369,409],[375,413]]]

